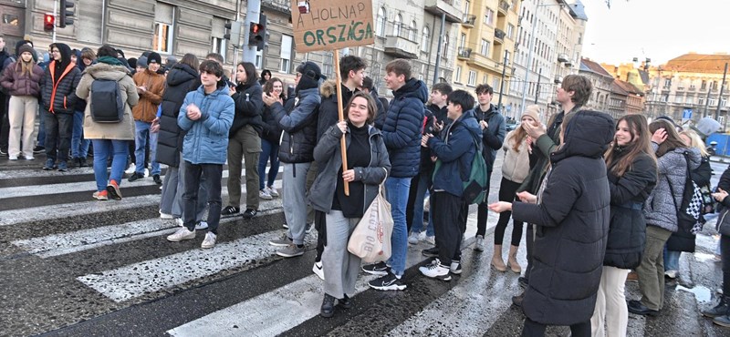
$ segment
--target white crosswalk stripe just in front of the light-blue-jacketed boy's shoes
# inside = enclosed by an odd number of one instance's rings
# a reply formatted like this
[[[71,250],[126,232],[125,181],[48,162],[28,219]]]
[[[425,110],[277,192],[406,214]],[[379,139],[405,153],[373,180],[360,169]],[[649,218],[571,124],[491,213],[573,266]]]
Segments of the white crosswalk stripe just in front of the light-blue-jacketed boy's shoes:
[[[274,247],[268,244],[268,241],[281,237],[284,232],[284,230],[274,230],[239,240],[222,242],[210,250],[186,250],[160,259],[145,260],[98,274],[80,276],[77,280],[99,291],[112,301],[128,301],[153,291],[170,289],[188,281],[213,275],[219,271],[241,267],[252,260],[269,257],[281,247]],[[311,244],[315,240],[317,240],[316,235],[307,235],[305,244]]]

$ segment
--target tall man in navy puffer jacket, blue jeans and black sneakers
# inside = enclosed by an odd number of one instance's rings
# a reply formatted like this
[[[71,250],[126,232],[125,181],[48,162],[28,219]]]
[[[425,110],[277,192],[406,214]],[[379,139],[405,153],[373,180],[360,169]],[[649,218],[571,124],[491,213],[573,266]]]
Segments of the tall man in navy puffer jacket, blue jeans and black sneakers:
[[[401,281],[405,272],[405,258],[408,250],[408,229],[405,223],[405,208],[411,179],[418,174],[421,163],[421,131],[425,116],[423,104],[428,99],[425,83],[413,78],[411,64],[404,59],[395,59],[385,66],[385,83],[393,91],[393,100],[385,123],[382,137],[391,158],[391,176],[385,180],[388,202],[391,203],[393,231],[391,235],[391,259],[363,266],[363,271],[381,278],[370,281],[370,287],[380,291],[404,290]],[[396,128],[397,127],[397,128]]]

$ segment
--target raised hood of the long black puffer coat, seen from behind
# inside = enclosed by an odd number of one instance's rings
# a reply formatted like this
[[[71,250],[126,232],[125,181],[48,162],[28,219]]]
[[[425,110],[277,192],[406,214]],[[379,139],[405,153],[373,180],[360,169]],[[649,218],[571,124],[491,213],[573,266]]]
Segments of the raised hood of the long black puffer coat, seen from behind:
[[[579,126],[578,126],[579,124]],[[553,163],[580,156],[602,158],[615,134],[613,118],[599,111],[581,110],[571,117],[563,135],[563,145],[553,152]]]

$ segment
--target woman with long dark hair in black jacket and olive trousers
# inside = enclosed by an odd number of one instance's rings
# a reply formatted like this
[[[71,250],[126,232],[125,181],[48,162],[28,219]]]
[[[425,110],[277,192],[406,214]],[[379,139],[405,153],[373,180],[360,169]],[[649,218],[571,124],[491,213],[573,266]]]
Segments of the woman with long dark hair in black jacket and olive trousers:
[[[261,137],[264,121],[261,109],[262,89],[258,84],[256,68],[250,62],[236,66],[235,80],[238,86],[230,89],[235,101],[235,118],[228,133],[228,206],[221,210],[224,217],[234,216],[241,209],[241,160],[245,161],[245,212],[244,219],[254,218],[258,211],[258,156],[261,153]]]

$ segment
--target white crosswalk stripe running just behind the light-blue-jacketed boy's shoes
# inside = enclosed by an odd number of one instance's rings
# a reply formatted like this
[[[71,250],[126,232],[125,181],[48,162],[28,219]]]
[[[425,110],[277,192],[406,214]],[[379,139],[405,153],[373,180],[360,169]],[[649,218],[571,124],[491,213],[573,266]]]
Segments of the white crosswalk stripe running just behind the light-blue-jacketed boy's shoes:
[[[259,207],[259,214],[280,210],[281,199],[263,200]],[[240,220],[240,218],[222,219],[221,224],[234,222],[235,220]],[[15,240],[10,243],[45,259],[122,242],[171,234],[177,229],[178,227],[175,226],[173,220],[155,218],[27,240]]]

